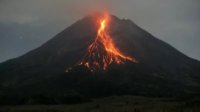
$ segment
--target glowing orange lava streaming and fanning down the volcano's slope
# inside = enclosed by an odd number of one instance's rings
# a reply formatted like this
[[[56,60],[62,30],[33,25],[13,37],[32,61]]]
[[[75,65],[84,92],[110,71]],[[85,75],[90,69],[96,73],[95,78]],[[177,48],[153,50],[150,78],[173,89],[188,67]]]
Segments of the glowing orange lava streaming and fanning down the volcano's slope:
[[[107,70],[112,63],[124,64],[125,61],[136,62],[135,58],[125,56],[115,46],[111,36],[106,32],[109,16],[100,20],[97,36],[89,45],[87,53],[79,65],[84,65],[90,71]]]

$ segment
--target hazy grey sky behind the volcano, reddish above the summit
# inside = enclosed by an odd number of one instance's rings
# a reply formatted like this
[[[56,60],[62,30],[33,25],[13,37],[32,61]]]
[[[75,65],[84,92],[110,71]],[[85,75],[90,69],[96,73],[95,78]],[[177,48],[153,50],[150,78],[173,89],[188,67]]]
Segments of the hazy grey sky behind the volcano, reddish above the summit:
[[[0,0],[0,62],[103,9],[200,60],[200,0]]]

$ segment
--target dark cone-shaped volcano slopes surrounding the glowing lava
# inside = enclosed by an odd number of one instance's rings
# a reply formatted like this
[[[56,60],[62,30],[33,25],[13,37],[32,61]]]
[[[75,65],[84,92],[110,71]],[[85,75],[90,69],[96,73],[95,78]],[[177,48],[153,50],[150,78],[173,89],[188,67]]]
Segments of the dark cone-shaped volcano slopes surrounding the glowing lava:
[[[87,97],[200,93],[199,61],[155,38],[131,20],[112,15],[108,34],[124,55],[134,57],[138,63],[113,63],[103,72],[91,72],[78,65],[97,35],[97,18],[98,15],[87,16],[39,48],[1,63],[0,93],[76,93]],[[104,53],[100,50],[101,55]]]

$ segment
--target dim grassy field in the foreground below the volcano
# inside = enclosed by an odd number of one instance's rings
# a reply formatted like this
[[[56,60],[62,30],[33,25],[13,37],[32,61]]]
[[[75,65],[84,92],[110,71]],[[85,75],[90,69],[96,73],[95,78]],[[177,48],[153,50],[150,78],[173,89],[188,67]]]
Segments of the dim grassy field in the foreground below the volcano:
[[[0,112],[200,112],[200,98],[111,96],[76,104],[1,105]]]

